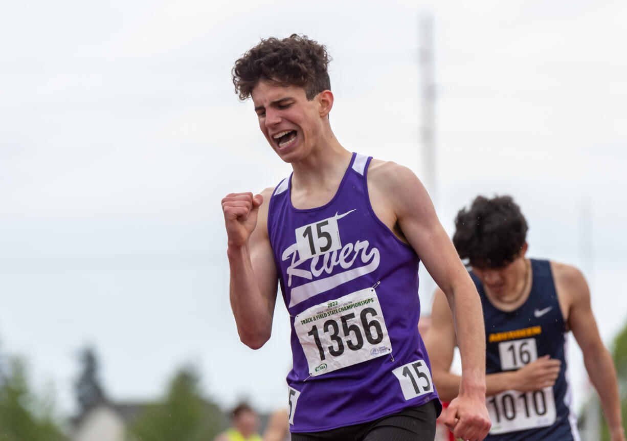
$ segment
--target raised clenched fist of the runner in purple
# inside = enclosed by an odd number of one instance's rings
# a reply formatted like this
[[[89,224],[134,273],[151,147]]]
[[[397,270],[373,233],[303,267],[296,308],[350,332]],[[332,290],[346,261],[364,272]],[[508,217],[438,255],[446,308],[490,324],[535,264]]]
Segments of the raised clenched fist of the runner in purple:
[[[261,194],[229,193],[222,199],[229,247],[241,247],[248,242],[257,225],[257,213],[263,202]]]

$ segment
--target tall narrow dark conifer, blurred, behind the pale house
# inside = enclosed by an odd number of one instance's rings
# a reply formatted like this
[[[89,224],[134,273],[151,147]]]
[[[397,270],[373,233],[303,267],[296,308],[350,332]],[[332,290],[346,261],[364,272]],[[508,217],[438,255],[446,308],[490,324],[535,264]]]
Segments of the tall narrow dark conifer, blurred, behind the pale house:
[[[98,356],[95,349],[85,346],[78,353],[80,372],[74,381],[74,392],[78,402],[78,415],[84,415],[100,403],[107,401],[100,383]]]

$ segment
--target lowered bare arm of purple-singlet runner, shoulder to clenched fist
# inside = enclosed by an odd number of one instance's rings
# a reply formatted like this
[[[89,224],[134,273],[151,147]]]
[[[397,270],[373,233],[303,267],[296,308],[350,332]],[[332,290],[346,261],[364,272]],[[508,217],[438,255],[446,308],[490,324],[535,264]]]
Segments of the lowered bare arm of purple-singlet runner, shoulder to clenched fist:
[[[457,437],[483,439],[490,420],[485,406],[485,332],[475,285],[418,178],[406,167],[391,162],[382,164],[381,170],[373,174],[377,176],[374,184],[393,205],[403,235],[445,292],[453,311],[463,374],[460,393],[449,406],[446,424]]]

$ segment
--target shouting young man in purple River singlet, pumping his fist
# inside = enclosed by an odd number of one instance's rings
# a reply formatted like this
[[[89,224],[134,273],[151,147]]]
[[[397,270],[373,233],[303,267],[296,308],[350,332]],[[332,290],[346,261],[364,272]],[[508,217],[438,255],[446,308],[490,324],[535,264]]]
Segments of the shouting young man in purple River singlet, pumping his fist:
[[[324,46],[292,35],[261,40],[233,68],[240,99],[252,98],[261,132],[293,168],[275,188],[222,200],[240,339],[253,349],[268,340],[280,285],[292,326],[292,440],[433,440],[440,401],[418,332],[422,260],[460,331],[451,427],[481,440],[477,290],[418,178],[335,138],[328,63]],[[376,109],[364,115],[376,122]]]

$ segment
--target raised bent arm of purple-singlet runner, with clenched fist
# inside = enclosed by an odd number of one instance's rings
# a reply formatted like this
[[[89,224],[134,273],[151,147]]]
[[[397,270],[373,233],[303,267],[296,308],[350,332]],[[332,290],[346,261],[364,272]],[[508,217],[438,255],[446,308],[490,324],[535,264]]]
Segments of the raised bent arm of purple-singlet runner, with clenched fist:
[[[270,338],[277,300],[277,268],[268,238],[271,189],[263,196],[231,193],[222,199],[231,270],[229,297],[243,343],[258,349]]]

